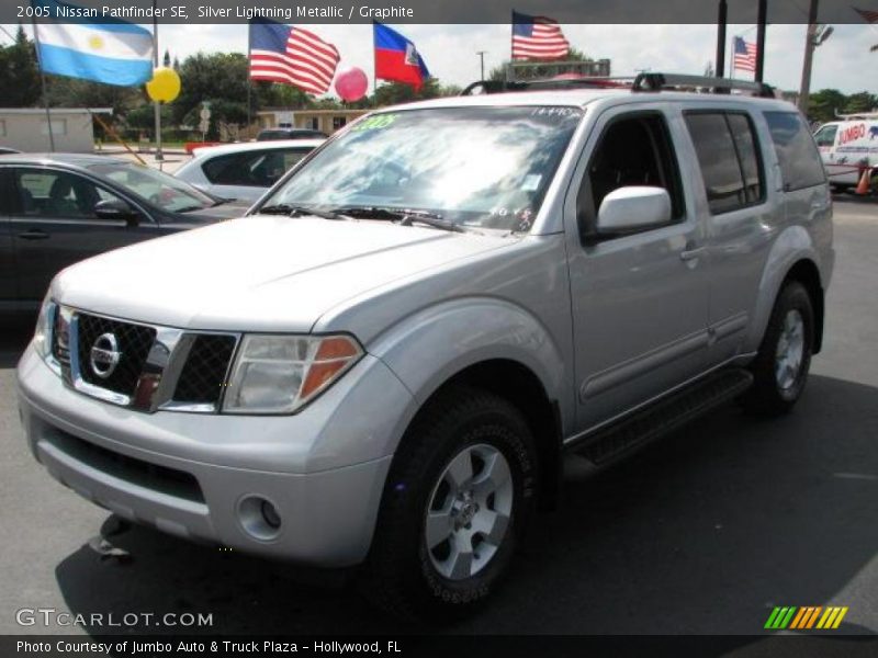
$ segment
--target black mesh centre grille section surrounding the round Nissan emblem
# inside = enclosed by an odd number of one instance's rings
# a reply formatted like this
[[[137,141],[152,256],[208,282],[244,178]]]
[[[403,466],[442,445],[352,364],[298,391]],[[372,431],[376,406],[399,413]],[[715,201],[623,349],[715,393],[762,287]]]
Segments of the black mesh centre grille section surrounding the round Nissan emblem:
[[[104,333],[116,337],[119,351],[122,353],[119,365],[109,377],[99,377],[91,365],[91,348],[94,341]],[[100,316],[79,315],[79,368],[80,376],[94,386],[106,388],[123,395],[134,395],[137,379],[143,373],[146,358],[156,339],[156,330],[151,327],[132,325],[111,320]]]

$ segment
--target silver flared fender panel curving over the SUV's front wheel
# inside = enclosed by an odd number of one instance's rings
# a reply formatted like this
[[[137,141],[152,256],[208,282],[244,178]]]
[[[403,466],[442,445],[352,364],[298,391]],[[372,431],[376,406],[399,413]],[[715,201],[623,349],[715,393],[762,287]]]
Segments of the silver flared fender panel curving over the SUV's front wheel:
[[[572,373],[562,350],[533,315],[504,299],[461,297],[421,309],[378,337],[369,352],[412,393],[406,427],[442,384],[495,359],[518,362],[539,378],[549,399],[558,402],[562,428],[572,419]]]

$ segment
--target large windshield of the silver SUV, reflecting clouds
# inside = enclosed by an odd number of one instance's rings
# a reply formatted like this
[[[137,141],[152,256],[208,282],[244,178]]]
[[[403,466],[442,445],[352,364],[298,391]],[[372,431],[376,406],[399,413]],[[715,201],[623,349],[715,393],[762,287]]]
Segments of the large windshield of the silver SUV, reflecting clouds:
[[[363,208],[419,211],[461,227],[525,231],[582,116],[566,106],[373,114],[260,207],[356,208],[360,217]]]

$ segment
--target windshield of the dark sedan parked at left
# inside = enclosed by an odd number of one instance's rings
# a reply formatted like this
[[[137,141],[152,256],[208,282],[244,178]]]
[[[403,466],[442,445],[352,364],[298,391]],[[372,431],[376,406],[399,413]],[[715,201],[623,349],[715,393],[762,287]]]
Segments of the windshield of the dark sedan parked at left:
[[[142,164],[100,162],[89,169],[171,213],[201,211],[216,205],[214,198],[189,183]]]

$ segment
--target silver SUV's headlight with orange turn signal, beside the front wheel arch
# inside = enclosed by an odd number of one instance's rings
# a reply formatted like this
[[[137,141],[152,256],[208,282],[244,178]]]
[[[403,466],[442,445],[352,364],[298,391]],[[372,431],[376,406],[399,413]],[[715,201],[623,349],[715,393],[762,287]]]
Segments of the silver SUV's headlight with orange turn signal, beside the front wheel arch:
[[[223,411],[292,413],[363,355],[349,336],[260,336],[241,340]]]

